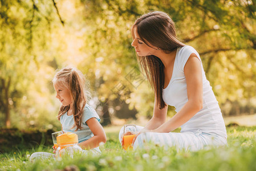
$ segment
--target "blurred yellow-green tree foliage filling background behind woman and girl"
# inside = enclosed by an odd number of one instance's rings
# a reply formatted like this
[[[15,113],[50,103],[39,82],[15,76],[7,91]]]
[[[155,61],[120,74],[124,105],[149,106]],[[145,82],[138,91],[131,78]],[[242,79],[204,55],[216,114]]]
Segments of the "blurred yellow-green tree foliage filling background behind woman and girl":
[[[65,66],[87,75],[104,125],[152,116],[130,31],[150,10],[169,13],[199,52],[224,116],[256,111],[255,0],[1,0],[0,10],[0,127],[59,129],[51,79]]]

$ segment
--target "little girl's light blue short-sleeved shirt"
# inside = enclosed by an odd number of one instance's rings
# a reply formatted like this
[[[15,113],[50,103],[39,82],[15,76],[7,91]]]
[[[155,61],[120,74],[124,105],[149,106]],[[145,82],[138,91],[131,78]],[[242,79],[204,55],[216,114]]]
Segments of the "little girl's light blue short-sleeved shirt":
[[[64,132],[76,133],[78,135],[78,143],[81,143],[94,136],[91,129],[86,124],[86,121],[91,119],[92,117],[95,117],[97,121],[100,122],[100,117],[99,115],[97,115],[95,109],[92,108],[90,105],[86,104],[86,106],[84,107],[84,113],[82,116],[82,124],[81,124],[82,129],[78,129],[78,131],[75,131],[76,127],[72,128],[75,123],[74,116],[73,115],[68,116],[67,112],[64,113],[62,116],[60,116],[60,123],[62,124],[62,129]],[[99,147],[95,149],[100,151]]]

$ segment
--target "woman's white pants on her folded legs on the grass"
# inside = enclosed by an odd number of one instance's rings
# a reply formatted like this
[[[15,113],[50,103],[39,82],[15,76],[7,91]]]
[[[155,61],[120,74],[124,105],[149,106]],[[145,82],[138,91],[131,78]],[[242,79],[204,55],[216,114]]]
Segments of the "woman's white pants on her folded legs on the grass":
[[[144,127],[136,126],[137,131],[141,131]],[[135,132],[135,127],[128,126],[125,131]],[[124,127],[119,132],[119,141],[121,143],[124,133]],[[196,132],[169,132],[169,133],[157,133],[157,132],[145,132],[137,136],[133,149],[144,148],[148,143],[164,146],[168,148],[175,146],[177,150],[185,149],[196,151],[203,149],[205,146],[221,146],[226,145],[227,141],[224,137],[218,135],[210,135],[209,133],[203,133],[198,129]]]

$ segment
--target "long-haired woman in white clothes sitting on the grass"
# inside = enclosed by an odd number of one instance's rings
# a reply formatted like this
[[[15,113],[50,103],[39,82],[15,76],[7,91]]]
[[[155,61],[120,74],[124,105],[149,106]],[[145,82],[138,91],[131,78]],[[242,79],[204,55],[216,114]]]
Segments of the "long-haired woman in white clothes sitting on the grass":
[[[145,128],[137,127],[140,132],[133,139],[133,149],[149,141],[189,150],[227,144],[221,110],[200,55],[178,40],[169,15],[160,11],[144,14],[132,26],[132,36],[137,59],[155,92],[153,117]],[[165,121],[168,105],[177,113]],[[180,133],[171,132],[178,127]],[[122,137],[123,128],[120,143]]]

